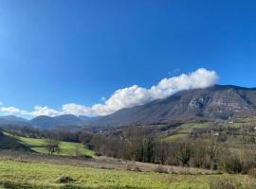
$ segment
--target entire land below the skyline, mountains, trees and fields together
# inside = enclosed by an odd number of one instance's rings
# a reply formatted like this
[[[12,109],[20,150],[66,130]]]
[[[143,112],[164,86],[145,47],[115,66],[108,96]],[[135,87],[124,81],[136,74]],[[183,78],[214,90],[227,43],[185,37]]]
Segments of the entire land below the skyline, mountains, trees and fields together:
[[[0,117],[0,186],[253,189],[256,116],[249,96],[254,93],[216,86],[101,117]],[[182,112],[174,112],[179,106]],[[230,106],[243,108],[232,112]],[[163,118],[168,113],[170,119]]]

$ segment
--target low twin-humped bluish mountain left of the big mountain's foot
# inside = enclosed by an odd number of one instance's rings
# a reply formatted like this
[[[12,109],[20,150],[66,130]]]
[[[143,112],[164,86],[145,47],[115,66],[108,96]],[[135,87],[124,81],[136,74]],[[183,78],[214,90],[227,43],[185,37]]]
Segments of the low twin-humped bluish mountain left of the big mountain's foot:
[[[52,129],[60,126],[78,126],[82,124],[82,119],[72,114],[64,114],[56,117],[41,115],[31,119],[30,124],[35,128]]]

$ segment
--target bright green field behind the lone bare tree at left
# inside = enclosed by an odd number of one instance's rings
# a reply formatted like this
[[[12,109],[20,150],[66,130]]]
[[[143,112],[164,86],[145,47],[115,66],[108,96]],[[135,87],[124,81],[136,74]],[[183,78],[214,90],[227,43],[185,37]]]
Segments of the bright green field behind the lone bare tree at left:
[[[5,133],[8,135],[8,133]],[[47,154],[48,151],[45,145],[45,139],[34,139],[27,137],[16,136],[16,139],[23,145],[29,147],[32,151],[38,153]],[[70,143],[70,142],[61,142],[60,151],[55,152],[54,155],[62,156],[94,156],[94,151],[91,151],[82,144],[79,143]]]

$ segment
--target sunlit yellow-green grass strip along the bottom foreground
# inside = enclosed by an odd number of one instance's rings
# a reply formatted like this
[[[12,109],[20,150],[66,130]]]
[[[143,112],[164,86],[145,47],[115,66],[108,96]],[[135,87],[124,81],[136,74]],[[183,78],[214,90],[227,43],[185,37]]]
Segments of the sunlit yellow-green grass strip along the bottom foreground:
[[[60,183],[63,176],[74,181]],[[0,160],[0,188],[208,189],[210,180],[220,178],[254,181],[241,175],[176,175]]]

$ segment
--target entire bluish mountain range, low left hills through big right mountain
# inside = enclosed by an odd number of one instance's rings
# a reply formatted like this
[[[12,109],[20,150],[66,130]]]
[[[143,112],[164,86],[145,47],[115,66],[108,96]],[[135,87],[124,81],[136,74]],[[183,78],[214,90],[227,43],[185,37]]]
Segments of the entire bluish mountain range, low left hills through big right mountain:
[[[146,124],[168,124],[174,121],[229,119],[256,115],[256,88],[215,85],[193,89],[157,99],[145,105],[122,109],[107,116],[89,118],[71,114],[56,117],[38,116],[30,121],[0,117],[2,124],[29,125],[41,129],[68,127],[117,127]]]

